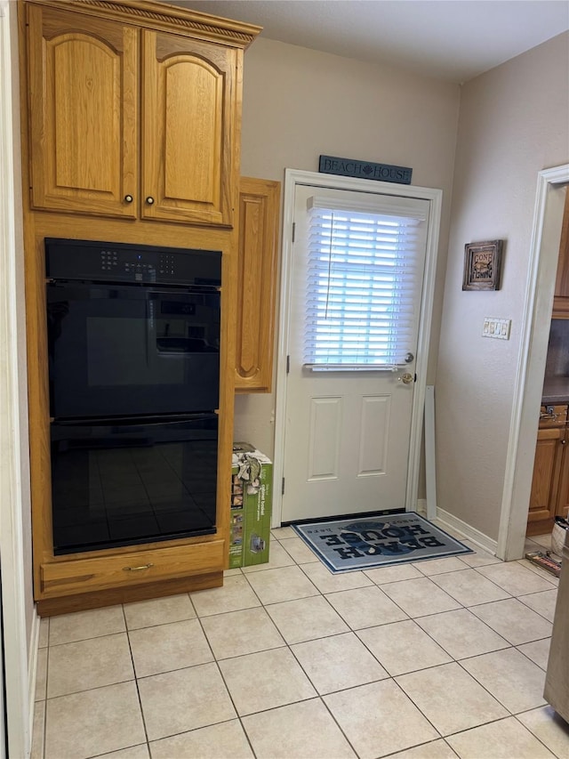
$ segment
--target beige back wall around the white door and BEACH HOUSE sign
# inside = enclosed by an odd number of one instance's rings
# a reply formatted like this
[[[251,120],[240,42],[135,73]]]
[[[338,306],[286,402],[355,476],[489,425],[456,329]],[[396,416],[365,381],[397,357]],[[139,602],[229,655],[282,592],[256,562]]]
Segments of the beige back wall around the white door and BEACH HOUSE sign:
[[[283,180],[318,170],[321,154],[413,168],[413,184],[440,188],[441,251],[433,317],[445,276],[460,88],[258,37],[244,55],[241,173]],[[429,357],[432,382],[437,339]],[[273,456],[274,394],[236,398],[235,439]]]

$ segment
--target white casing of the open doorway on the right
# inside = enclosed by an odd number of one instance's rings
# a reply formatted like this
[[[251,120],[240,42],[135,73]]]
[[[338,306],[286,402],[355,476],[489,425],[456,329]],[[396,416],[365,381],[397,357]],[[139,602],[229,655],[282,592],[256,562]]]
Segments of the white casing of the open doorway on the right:
[[[538,174],[496,548],[496,555],[504,561],[524,557],[535,440],[539,424],[537,412],[543,391],[565,202],[565,192],[562,188],[567,183],[569,164],[544,169]]]

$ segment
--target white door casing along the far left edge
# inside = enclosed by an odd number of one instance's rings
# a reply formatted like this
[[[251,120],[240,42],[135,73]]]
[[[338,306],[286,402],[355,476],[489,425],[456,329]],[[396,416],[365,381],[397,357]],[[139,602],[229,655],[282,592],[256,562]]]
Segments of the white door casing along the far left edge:
[[[24,571],[23,517],[27,503],[22,490],[27,470],[21,458],[22,441],[27,448],[28,431],[20,424],[21,387],[18,351],[17,256],[21,254],[20,171],[14,156],[17,93],[13,77],[17,60],[17,7],[0,0],[0,581],[4,637],[4,694],[7,755],[26,759],[30,753],[34,692],[28,666],[26,585]],[[36,650],[29,646],[32,660]]]

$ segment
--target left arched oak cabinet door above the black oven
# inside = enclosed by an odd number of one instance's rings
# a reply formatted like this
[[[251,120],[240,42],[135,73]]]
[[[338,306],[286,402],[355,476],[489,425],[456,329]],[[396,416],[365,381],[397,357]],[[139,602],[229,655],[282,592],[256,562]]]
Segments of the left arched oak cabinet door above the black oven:
[[[29,6],[32,205],[134,217],[138,32]]]

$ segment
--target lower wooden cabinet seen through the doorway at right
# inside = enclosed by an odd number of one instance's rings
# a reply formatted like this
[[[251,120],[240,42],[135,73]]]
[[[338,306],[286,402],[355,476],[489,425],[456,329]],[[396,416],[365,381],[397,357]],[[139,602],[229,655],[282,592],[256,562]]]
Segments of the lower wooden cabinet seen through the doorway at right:
[[[569,454],[567,406],[541,407],[533,463],[527,535],[551,532],[555,517],[569,511]]]

